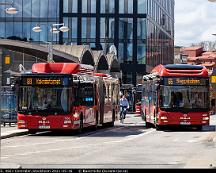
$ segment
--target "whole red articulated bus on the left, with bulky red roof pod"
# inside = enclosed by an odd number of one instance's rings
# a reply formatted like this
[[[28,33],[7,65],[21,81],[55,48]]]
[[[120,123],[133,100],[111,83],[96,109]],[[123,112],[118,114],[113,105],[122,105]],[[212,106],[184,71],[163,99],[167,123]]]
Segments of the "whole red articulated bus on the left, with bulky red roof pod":
[[[90,65],[36,63],[18,81],[18,128],[70,130],[114,126],[119,81]]]

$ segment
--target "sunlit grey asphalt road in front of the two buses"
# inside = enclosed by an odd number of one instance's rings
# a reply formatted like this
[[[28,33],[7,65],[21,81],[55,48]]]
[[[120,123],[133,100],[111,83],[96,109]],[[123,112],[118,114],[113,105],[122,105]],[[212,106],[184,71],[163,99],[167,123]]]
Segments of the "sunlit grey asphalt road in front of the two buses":
[[[128,115],[113,128],[1,141],[1,168],[215,168],[216,116],[202,131],[146,129]]]

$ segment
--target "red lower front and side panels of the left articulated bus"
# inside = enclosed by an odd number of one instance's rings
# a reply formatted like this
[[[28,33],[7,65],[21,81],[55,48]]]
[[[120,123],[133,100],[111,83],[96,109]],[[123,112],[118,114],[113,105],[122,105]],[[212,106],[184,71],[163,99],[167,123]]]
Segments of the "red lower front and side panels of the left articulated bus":
[[[93,126],[96,124],[96,109],[80,107],[76,113],[83,113],[83,126]],[[20,129],[78,129],[80,119],[73,114],[67,115],[24,115],[18,113],[18,128]]]

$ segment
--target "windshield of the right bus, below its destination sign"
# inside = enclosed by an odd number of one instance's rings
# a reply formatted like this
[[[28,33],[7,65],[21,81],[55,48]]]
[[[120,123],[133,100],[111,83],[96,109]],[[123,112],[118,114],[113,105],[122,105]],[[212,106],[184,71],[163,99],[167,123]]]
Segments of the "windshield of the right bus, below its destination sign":
[[[160,107],[164,109],[208,109],[205,86],[161,86]]]

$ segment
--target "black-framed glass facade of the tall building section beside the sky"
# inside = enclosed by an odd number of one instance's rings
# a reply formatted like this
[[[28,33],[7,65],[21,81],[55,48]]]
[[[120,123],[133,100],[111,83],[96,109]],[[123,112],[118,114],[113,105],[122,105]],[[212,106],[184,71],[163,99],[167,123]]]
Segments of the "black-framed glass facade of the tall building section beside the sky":
[[[63,0],[64,9],[73,1]],[[105,51],[114,44],[123,83],[136,84],[140,82],[139,76],[154,66],[173,61],[174,3],[174,0],[76,0],[77,10],[67,8],[62,16],[63,20],[77,19],[76,38],[64,36],[63,40]],[[69,27],[73,28],[73,22]]]

